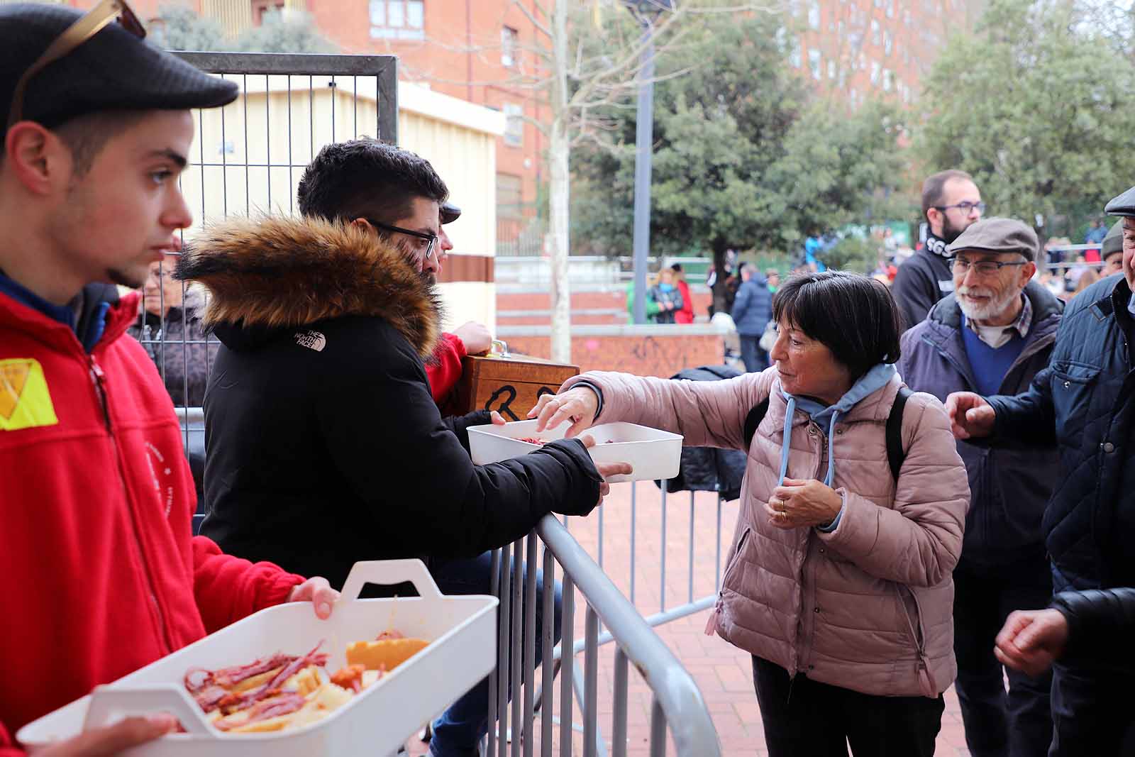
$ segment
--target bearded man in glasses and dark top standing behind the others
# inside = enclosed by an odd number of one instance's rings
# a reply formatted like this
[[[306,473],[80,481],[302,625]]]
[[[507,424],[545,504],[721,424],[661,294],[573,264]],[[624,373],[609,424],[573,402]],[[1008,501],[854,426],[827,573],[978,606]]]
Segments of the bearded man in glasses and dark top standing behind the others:
[[[920,323],[935,302],[953,292],[953,272],[945,245],[980,220],[983,212],[982,193],[965,171],[940,171],[923,183],[923,216],[928,226],[926,243],[899,266],[891,285],[891,294],[902,311],[905,329]]]

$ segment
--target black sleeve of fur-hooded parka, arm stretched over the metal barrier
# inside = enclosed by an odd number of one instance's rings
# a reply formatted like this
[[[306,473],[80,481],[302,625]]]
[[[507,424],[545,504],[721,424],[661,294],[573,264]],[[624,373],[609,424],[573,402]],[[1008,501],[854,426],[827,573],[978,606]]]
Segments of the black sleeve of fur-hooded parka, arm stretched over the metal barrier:
[[[602,478],[578,440],[473,465],[410,343],[368,320],[337,335],[354,350],[323,363],[318,409],[336,473],[365,503],[360,528],[407,554],[472,556],[519,539],[549,512],[595,507]]]

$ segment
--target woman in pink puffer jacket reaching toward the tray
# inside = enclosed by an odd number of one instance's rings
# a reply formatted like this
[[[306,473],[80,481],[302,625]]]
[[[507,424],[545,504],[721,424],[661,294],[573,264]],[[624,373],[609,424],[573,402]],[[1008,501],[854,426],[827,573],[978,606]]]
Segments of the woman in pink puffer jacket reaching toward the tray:
[[[775,367],[725,381],[588,372],[530,417],[570,435],[629,421],[689,446],[748,446],[737,532],[708,630],[753,655],[771,757],[933,755],[956,674],[953,583],[969,485],[938,399],[902,387],[899,313],[878,281],[805,274],[773,302]],[[541,427],[543,429],[544,427]]]

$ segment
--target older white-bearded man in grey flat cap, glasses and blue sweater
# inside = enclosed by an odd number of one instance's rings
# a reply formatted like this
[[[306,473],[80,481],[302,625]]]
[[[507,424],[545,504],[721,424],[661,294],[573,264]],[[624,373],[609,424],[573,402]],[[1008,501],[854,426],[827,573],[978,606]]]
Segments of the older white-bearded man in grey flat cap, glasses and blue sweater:
[[[916,392],[1017,394],[1049,363],[1063,303],[1032,281],[1036,234],[1008,218],[969,226],[947,247],[953,292],[902,335],[899,372]],[[1054,444],[997,448],[958,440],[970,504],[953,572],[953,649],[966,743],[974,757],[1043,757],[1052,741],[1051,675],[1004,670],[993,641],[1014,609],[1052,594],[1041,516],[1057,483]]]

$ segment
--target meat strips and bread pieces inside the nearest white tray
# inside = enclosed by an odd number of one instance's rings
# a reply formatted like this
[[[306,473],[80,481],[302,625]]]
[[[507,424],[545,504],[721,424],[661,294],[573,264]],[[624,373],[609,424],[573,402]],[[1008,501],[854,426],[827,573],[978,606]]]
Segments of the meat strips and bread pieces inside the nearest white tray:
[[[306,655],[275,654],[247,665],[192,667],[184,683],[212,724],[229,733],[262,733],[308,725],[351,701],[429,645],[394,630],[347,647],[347,664],[328,673],[320,641]]]

